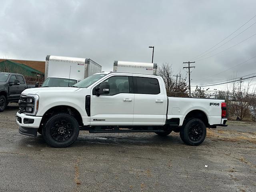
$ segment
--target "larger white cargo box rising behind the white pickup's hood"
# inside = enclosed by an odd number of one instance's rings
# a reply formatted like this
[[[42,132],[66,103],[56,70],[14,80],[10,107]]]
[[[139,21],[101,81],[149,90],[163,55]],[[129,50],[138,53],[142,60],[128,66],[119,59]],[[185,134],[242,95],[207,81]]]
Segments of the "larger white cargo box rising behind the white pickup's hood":
[[[44,78],[61,77],[83,80],[101,71],[101,66],[88,58],[47,55]]]

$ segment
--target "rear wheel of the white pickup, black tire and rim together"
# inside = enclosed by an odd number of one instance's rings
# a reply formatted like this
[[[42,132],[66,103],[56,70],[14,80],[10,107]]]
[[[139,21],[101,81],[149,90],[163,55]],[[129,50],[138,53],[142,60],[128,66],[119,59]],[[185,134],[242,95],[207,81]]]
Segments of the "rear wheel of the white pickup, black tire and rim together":
[[[206,137],[206,126],[202,120],[190,118],[180,130],[180,138],[187,145],[198,146]]]

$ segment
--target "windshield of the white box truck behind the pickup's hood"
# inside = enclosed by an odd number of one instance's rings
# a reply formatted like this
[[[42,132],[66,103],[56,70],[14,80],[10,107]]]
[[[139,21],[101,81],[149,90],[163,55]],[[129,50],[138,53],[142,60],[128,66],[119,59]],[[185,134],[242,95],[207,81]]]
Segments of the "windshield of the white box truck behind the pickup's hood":
[[[74,79],[65,79],[65,78],[47,78],[41,87],[71,87],[76,84]]]

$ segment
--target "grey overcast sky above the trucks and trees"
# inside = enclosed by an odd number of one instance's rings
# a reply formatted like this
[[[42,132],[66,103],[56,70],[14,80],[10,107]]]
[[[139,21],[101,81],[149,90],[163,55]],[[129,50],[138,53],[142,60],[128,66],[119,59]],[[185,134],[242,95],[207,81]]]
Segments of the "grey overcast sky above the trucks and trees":
[[[230,35],[256,15],[255,8],[255,0],[0,0],[0,58],[45,60],[48,54],[91,58],[111,71],[114,60],[151,62],[148,46],[155,46],[154,62],[168,62],[174,73],[181,70],[185,76],[182,62]],[[256,17],[218,46],[255,22]],[[214,75],[256,56],[256,35],[245,40],[255,33],[256,24],[194,59],[216,54],[193,64],[191,84],[256,72],[254,58]]]

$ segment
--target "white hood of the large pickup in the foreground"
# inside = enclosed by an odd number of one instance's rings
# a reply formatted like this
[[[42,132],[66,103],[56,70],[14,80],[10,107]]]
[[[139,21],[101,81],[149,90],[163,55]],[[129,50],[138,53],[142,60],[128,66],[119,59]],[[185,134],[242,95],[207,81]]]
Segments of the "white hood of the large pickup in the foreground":
[[[27,94],[38,94],[40,92],[56,92],[62,93],[62,92],[74,92],[80,88],[77,87],[41,87],[41,88],[29,88],[25,89],[22,92],[22,95],[27,95]]]

